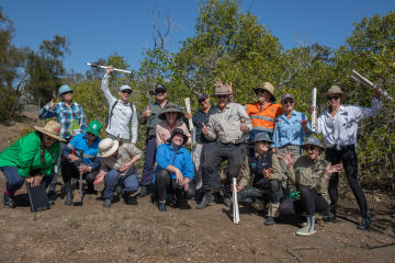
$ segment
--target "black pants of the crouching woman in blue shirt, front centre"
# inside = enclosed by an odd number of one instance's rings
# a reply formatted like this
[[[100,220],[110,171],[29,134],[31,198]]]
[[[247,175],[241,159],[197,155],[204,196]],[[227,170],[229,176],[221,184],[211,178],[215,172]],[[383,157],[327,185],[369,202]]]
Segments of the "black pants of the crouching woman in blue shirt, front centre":
[[[159,197],[159,201],[166,201],[168,193],[176,193],[177,197],[192,198],[196,188],[192,182],[190,182],[189,188],[185,192],[183,186],[176,182],[176,179],[171,179],[171,174],[166,169],[160,170],[155,179],[155,187]]]

